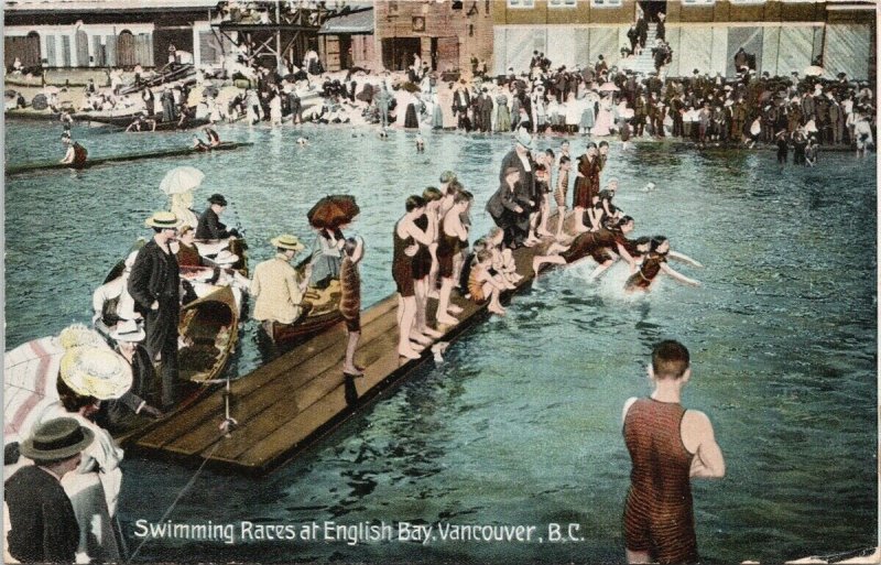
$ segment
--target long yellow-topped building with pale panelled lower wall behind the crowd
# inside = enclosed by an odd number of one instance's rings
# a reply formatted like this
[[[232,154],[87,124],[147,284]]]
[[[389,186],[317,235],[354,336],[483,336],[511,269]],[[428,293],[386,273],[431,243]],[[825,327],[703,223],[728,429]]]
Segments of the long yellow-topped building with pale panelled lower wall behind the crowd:
[[[827,78],[874,80],[875,3],[834,0],[493,0],[493,72],[529,68],[533,51],[555,67],[618,64],[638,10],[666,15],[668,76],[730,76],[743,47],[760,74],[801,74],[819,57]]]

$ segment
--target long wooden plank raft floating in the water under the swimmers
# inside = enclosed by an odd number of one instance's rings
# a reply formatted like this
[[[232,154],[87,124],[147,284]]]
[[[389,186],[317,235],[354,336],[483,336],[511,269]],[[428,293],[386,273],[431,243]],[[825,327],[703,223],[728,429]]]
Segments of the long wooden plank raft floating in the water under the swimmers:
[[[554,217],[555,218],[555,217]],[[552,218],[552,219],[554,219]],[[543,246],[539,246],[543,247]],[[516,289],[502,294],[503,302],[532,284],[532,258],[536,248],[514,251]],[[463,308],[455,326],[442,326],[438,341],[450,341],[489,317],[487,303],[458,296]],[[436,300],[429,300],[433,322]],[[361,314],[361,340],[356,360],[363,377],[342,374],[346,330],[342,323],[297,346],[278,359],[233,381],[230,416],[236,427],[225,435],[225,391],[219,390],[151,426],[130,441],[127,448],[159,458],[248,475],[264,475],[316,445],[350,416],[362,412],[382,393],[413,374],[431,359],[431,347],[420,359],[398,356],[398,298],[389,296]]]

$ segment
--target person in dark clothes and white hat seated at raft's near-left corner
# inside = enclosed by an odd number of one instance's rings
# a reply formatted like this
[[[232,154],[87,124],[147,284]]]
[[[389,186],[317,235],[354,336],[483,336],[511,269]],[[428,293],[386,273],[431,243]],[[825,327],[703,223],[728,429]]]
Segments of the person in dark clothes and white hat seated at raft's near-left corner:
[[[146,337],[143,327],[134,319],[124,319],[110,333],[117,351],[131,366],[132,384],[118,399],[101,402],[95,421],[111,433],[126,433],[143,427],[152,420],[162,417],[152,404],[159,401],[156,371],[150,354],[142,341]]]

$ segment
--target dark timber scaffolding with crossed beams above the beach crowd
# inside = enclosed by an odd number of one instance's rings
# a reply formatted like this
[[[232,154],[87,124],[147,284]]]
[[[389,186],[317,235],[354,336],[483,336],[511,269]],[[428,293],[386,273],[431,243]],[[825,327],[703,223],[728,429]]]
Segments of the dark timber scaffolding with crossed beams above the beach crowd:
[[[305,53],[314,45],[317,51],[318,30],[328,18],[348,13],[350,8],[333,10],[325,2],[315,8],[291,7],[290,2],[260,2],[267,18],[262,21],[231,20],[213,23],[215,34],[220,33],[243,51],[248,64],[264,56],[275,57],[275,67],[282,64],[300,66]]]

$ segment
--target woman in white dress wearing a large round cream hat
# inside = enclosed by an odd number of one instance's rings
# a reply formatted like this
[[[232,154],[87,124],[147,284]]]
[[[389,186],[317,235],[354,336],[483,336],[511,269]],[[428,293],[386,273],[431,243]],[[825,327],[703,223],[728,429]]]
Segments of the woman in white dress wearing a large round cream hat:
[[[78,558],[119,561],[111,518],[116,514],[122,487],[119,467],[122,449],[107,430],[90,419],[102,401],[121,398],[131,383],[131,367],[109,348],[74,347],[62,357],[57,380],[59,400],[41,415],[43,423],[58,417],[73,419],[95,436],[95,442],[83,452],[76,470],[62,479],[79,523]],[[22,454],[28,456],[25,449]]]

